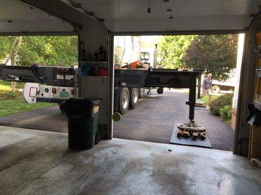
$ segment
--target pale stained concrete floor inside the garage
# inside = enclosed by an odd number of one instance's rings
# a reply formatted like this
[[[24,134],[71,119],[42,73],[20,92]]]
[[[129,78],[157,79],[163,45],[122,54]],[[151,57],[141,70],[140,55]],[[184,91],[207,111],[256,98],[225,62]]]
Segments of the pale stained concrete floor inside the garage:
[[[171,149],[172,152],[169,152]],[[261,172],[232,152],[0,126],[1,195],[260,195]]]

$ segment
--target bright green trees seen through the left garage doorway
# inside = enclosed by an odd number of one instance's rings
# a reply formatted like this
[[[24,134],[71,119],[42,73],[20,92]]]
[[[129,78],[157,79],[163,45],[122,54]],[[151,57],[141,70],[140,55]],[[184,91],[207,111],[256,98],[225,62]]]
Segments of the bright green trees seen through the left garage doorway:
[[[18,38],[0,37],[0,61],[10,58],[13,50],[17,55],[16,65],[44,63],[71,66],[78,61],[76,36],[23,36],[19,47],[14,44]]]

